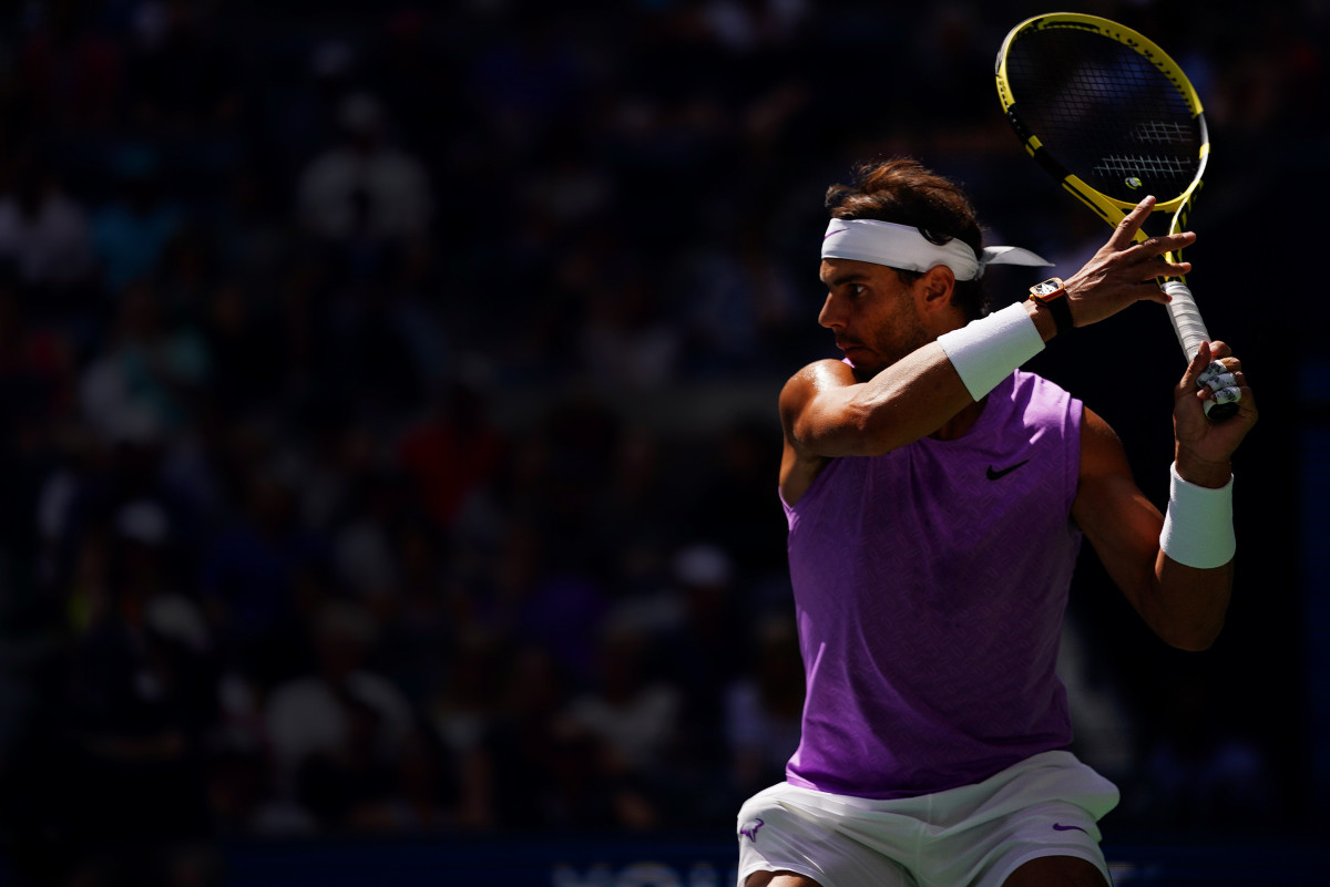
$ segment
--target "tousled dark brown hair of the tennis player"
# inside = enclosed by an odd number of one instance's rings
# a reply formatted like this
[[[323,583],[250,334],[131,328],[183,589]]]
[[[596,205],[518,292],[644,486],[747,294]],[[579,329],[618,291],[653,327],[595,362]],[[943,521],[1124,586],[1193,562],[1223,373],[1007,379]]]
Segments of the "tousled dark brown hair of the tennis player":
[[[932,243],[960,239],[976,256],[983,248],[983,234],[970,198],[959,185],[926,169],[919,161],[899,158],[859,163],[851,185],[827,189],[826,206],[837,219],[912,224]],[[896,274],[907,283],[923,276],[899,268]],[[982,279],[958,280],[951,301],[964,311],[966,320],[988,312],[988,293]]]

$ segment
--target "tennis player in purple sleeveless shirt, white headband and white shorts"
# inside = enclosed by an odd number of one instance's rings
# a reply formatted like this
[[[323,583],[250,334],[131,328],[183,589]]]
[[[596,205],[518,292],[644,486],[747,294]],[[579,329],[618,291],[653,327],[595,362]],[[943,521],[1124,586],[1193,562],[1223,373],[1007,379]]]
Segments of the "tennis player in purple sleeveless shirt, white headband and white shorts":
[[[1019,368],[1166,301],[1154,279],[1190,263],[1162,254],[1194,235],[1133,244],[1146,198],[1065,283],[984,316],[987,264],[1047,263],[980,248],[956,185],[892,161],[827,204],[818,321],[845,360],[779,401],[807,702],[786,781],[739,811],[738,883],[1103,887],[1097,821],[1119,793],[1068,750],[1053,672],[1076,554],[1088,538],[1166,643],[1209,647],[1233,578],[1230,458],[1257,410],[1229,347],[1202,345],[1173,388],[1160,514],[1104,420]],[[1210,422],[1206,400],[1238,412]]]

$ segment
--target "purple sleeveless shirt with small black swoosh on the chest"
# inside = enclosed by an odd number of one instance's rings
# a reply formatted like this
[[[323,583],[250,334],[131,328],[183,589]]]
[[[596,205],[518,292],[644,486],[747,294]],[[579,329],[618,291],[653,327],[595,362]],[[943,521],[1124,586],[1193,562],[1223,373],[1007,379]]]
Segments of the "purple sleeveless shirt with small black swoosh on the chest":
[[[807,680],[790,783],[903,798],[1071,744],[1053,667],[1080,424],[1016,372],[959,440],[831,459],[785,507]]]

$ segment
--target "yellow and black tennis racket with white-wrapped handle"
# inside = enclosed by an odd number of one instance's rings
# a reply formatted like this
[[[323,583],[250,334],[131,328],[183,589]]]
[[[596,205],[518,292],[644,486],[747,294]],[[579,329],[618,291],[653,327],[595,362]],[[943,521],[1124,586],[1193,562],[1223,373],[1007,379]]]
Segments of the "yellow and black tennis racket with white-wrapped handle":
[[[1210,139],[1201,100],[1182,69],[1130,28],[1071,12],[1035,16],[1012,28],[998,53],[998,96],[1025,151],[1111,226],[1146,194],[1168,234],[1182,230],[1201,187]],[[1136,232],[1141,242],[1152,236]],[[1181,251],[1165,254],[1181,262]],[[1173,331],[1190,361],[1210,339],[1184,276],[1164,278]],[[1222,374],[1210,364],[1198,385]],[[1212,385],[1212,389],[1214,385]],[[1205,401],[1213,421],[1237,412]]]

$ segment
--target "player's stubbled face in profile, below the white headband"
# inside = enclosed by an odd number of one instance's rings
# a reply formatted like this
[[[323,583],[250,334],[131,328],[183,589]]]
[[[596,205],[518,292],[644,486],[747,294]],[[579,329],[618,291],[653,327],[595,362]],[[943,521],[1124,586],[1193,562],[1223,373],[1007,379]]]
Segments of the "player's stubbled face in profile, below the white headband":
[[[895,270],[853,259],[823,259],[819,276],[827,299],[818,323],[835,333],[837,348],[870,378],[934,336],[924,327],[915,287]]]

